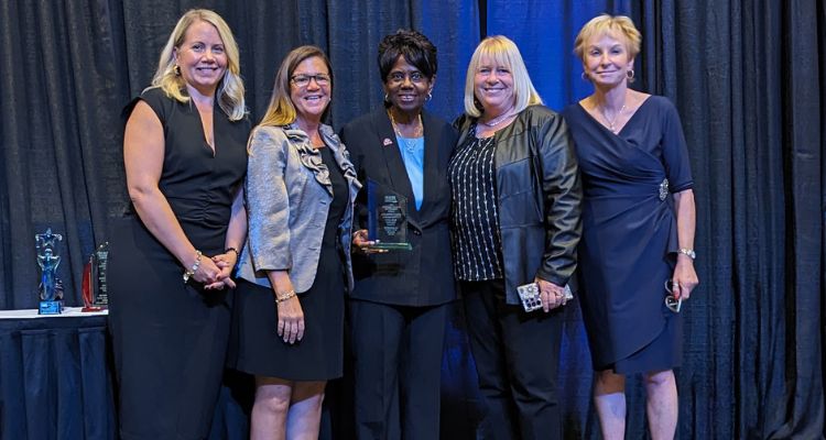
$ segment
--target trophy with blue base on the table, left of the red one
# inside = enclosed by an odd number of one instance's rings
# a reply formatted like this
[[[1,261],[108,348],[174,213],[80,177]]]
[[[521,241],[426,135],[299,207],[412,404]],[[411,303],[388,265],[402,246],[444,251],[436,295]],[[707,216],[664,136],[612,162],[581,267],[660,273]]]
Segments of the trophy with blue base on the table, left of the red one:
[[[61,256],[55,252],[55,242],[63,240],[63,235],[52,233],[52,228],[42,234],[35,234],[37,250],[37,265],[41,270],[39,315],[58,315],[63,311],[63,282],[57,277],[57,266]]]

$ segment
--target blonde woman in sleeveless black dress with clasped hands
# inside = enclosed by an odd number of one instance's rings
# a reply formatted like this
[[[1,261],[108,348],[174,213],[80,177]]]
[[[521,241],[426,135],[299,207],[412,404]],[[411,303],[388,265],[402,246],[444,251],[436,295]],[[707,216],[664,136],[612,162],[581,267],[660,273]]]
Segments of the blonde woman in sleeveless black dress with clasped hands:
[[[109,328],[120,437],[209,432],[230,323],[229,277],[247,218],[243,82],[238,47],[215,12],[191,10],[152,87],[126,109],[131,212],[109,254]]]

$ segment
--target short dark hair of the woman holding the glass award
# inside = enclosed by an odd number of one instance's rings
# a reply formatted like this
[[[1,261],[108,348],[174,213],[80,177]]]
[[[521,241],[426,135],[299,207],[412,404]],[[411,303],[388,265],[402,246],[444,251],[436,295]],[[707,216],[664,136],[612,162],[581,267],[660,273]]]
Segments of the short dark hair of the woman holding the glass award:
[[[384,36],[379,43],[379,72],[381,80],[387,81],[395,61],[404,57],[411,66],[419,69],[427,79],[433,79],[438,67],[436,46],[419,31],[400,29],[394,34]]]

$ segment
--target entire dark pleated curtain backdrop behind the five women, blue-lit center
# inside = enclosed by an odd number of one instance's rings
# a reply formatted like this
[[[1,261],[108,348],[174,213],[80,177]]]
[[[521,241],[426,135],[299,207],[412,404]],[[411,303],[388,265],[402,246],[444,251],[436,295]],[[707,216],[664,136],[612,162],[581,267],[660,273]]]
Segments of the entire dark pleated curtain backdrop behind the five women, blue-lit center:
[[[376,46],[413,26],[439,48],[430,108],[461,111],[465,69],[483,34],[523,51],[550,107],[590,92],[570,54],[590,16],[629,13],[643,34],[634,87],[671,98],[696,182],[702,285],[685,309],[678,436],[824,437],[826,7],[818,0],[0,1],[0,309],[33,308],[34,234],[64,234],[59,276],[79,305],[80,273],[124,206],[120,109],[148,84],[181,13],[219,12],[241,48],[257,121],[294,46],[328,52],[333,122],[378,108]],[[561,396],[566,438],[599,438],[590,360],[566,311]],[[457,321],[460,326],[460,321]],[[464,333],[443,367],[449,438],[480,417]],[[628,382],[628,438],[645,438],[644,393]],[[445,437],[445,438],[448,438]]]

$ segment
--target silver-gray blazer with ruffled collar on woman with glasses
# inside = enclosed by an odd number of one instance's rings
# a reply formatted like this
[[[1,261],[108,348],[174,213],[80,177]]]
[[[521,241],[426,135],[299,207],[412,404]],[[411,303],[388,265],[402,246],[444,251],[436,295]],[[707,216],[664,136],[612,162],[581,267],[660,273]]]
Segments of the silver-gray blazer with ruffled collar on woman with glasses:
[[[347,258],[348,288],[352,289],[352,205],[361,184],[333,129],[322,125],[318,132],[349,186],[339,240]],[[244,190],[249,233],[237,275],[271,287],[267,271],[285,270],[295,292],[307,292],[315,279],[322,232],[333,201],[329,170],[307,134],[295,125],[256,128],[248,150]]]

